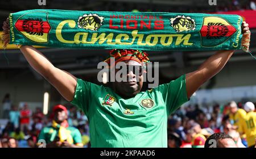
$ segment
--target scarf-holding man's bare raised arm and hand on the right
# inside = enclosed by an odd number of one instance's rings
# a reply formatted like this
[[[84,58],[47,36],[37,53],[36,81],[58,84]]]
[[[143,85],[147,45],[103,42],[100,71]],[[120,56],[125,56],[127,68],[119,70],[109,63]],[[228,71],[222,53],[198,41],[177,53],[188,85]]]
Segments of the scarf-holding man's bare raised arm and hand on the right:
[[[243,34],[245,32],[249,32],[248,26],[249,25],[247,23],[242,23]],[[220,72],[233,53],[234,51],[229,50],[218,51],[204,61],[196,71],[186,74],[187,97],[190,98],[204,82],[210,80],[210,78]]]

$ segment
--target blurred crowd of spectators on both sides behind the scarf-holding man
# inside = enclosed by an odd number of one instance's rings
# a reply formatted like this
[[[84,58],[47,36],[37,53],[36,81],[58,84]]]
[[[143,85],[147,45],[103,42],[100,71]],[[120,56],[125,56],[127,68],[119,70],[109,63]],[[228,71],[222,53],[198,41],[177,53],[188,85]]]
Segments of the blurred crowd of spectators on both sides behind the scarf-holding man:
[[[27,103],[14,106],[6,94],[2,108],[7,122],[0,127],[0,147],[35,148],[42,145],[40,139],[48,147],[90,147],[88,119],[75,106],[56,105],[46,116],[41,108],[31,111]],[[255,147],[255,125],[252,102],[181,107],[168,118],[168,147],[201,148],[211,137],[233,139],[240,148]]]

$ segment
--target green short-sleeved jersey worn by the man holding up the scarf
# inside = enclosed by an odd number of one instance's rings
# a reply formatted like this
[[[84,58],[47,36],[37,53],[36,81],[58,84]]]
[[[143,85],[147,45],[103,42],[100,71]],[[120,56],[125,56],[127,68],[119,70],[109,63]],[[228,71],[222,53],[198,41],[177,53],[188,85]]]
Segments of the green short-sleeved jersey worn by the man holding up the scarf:
[[[188,101],[185,75],[123,99],[112,89],[77,79],[71,103],[84,111],[92,147],[167,147],[167,118]]]

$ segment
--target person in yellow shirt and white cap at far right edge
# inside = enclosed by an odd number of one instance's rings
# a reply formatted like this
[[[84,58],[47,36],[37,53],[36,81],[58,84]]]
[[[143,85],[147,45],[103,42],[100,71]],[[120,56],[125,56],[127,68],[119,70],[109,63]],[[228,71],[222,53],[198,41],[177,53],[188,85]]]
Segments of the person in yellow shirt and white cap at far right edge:
[[[248,147],[255,147],[255,138],[256,138],[256,112],[255,106],[252,102],[246,102],[243,106],[247,112],[246,118],[242,120],[242,129],[246,134],[246,140]]]

